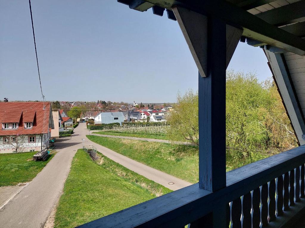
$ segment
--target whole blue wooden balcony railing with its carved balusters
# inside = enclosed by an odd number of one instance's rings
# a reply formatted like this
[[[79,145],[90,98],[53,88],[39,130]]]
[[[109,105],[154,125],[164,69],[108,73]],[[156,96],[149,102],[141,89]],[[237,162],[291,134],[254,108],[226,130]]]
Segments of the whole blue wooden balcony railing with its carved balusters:
[[[304,213],[304,163],[300,146],[227,172],[216,192],[194,184],[79,227],[211,227],[224,207],[226,227],[282,227]]]

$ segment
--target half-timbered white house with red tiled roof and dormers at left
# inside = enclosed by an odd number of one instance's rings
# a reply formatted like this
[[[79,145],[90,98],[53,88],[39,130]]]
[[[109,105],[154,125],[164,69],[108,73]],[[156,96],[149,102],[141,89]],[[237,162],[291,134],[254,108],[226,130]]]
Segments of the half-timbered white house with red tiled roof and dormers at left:
[[[49,146],[54,129],[50,102],[0,102],[0,153],[12,153],[9,138],[23,135],[25,151],[40,151]]]

